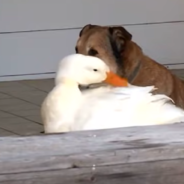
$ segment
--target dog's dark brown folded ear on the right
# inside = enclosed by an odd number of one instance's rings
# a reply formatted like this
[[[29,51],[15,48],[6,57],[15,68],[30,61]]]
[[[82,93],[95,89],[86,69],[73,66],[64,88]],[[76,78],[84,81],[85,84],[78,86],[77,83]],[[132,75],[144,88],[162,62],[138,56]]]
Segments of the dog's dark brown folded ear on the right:
[[[123,27],[109,27],[109,33],[113,42],[116,43],[118,51],[122,51],[127,41],[132,39],[132,35]]]

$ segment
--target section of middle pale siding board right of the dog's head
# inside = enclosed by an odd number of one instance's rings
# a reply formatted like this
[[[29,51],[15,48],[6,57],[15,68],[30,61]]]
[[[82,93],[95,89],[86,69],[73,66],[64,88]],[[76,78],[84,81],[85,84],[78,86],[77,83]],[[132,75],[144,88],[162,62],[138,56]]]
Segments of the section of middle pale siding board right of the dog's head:
[[[184,64],[184,23],[126,27],[146,55],[161,64]]]

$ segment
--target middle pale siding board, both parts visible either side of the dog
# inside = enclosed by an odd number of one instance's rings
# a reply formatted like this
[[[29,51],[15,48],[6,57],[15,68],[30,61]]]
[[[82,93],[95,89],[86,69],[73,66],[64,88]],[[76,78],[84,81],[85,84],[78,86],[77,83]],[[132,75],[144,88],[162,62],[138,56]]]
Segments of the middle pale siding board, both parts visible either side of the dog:
[[[162,64],[184,63],[184,23],[126,28],[133,34],[133,40],[156,61]],[[39,76],[55,72],[59,60],[74,53],[79,31],[1,34],[0,77],[25,74]]]

